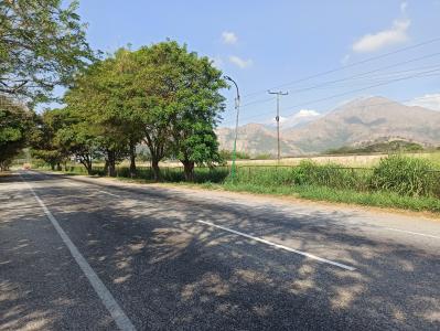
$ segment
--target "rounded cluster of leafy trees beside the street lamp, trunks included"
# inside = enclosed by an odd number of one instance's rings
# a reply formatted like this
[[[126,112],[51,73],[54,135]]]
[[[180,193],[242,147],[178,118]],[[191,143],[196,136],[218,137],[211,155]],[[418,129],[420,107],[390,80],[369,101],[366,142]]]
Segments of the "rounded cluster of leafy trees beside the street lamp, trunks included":
[[[167,41],[138,51],[121,49],[78,75],[66,93],[67,109],[89,122],[111,153],[131,156],[143,142],[155,178],[164,157],[182,161],[187,179],[194,164],[219,161],[214,129],[227,85],[207,57]]]

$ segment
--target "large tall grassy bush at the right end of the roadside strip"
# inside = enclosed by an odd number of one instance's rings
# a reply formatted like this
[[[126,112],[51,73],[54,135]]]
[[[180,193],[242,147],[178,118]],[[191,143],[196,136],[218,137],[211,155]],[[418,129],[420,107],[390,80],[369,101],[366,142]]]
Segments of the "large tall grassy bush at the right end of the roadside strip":
[[[382,159],[374,169],[372,186],[400,195],[432,195],[438,185],[432,169],[432,164],[423,159],[391,156]]]

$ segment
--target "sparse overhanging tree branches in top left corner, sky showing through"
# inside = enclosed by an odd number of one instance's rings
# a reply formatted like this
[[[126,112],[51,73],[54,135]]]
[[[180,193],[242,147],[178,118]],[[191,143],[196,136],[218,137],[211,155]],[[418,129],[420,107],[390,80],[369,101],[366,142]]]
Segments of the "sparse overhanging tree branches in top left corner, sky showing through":
[[[93,61],[78,2],[0,1],[0,93],[46,102],[54,86]]]

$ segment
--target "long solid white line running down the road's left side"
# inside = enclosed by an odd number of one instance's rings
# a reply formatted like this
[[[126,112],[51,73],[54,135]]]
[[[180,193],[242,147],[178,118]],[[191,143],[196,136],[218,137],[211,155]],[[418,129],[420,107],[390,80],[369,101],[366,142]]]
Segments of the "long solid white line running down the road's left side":
[[[111,314],[112,319],[115,320],[118,328],[122,331],[131,331],[136,330],[135,325],[131,323],[130,319],[126,316],[122,309],[119,307],[118,302],[116,302],[114,296],[104,285],[104,282],[99,279],[98,275],[94,271],[84,256],[79,253],[78,248],[74,245],[64,229],[61,227],[60,223],[56,218],[52,215],[49,211],[44,202],[36,195],[35,191],[33,190],[32,185],[28,183],[23,177],[20,174],[21,180],[28,185],[32,194],[34,195],[35,200],[39,202],[40,206],[43,209],[44,213],[46,214],[47,218],[51,221],[52,225],[55,227],[56,232],[63,239],[64,244],[67,246],[68,250],[71,252],[73,258],[78,264],[79,268],[83,270],[84,275],[87,277],[88,281],[90,282],[92,287],[95,289],[96,293],[103,301],[104,306],[107,308],[108,312]]]

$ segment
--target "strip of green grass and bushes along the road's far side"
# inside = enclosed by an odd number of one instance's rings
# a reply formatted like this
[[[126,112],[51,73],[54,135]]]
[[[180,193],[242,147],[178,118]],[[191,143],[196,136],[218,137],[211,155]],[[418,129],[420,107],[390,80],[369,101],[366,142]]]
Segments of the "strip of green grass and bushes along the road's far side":
[[[66,174],[85,174],[68,168]],[[194,181],[184,182],[182,170],[163,169],[162,181],[173,185],[197,186],[271,195],[290,195],[314,201],[394,207],[440,213],[440,172],[432,160],[391,156],[374,168],[347,168],[304,160],[297,167],[238,167],[235,179],[227,167],[196,168]],[[101,175],[97,168],[95,173]],[[118,180],[152,183],[151,169],[138,168],[131,179],[127,167],[119,167]]]

